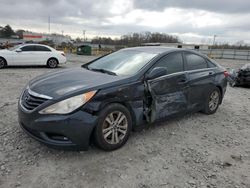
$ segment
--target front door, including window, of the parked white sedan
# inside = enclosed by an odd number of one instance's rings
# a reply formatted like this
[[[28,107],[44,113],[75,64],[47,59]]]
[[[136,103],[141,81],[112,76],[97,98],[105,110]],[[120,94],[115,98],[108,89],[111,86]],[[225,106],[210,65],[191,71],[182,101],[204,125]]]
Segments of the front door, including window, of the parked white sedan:
[[[13,54],[13,63],[15,65],[34,65],[36,59],[34,56],[35,46],[27,45],[16,50]]]

